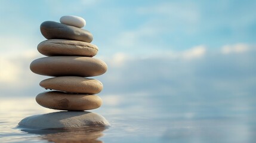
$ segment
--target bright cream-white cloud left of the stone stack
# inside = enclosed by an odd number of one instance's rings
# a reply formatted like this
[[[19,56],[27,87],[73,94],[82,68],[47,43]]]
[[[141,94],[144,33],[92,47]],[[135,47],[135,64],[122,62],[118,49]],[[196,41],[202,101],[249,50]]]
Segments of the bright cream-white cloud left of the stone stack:
[[[38,57],[42,57],[36,50],[25,50],[19,53],[3,55],[0,58],[0,85],[2,89],[17,90],[33,85],[36,78],[29,69],[30,63]]]

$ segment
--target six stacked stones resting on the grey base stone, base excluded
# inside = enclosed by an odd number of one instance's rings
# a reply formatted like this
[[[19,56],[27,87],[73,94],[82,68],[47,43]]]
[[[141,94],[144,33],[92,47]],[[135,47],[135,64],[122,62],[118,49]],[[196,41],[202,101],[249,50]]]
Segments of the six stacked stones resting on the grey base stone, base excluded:
[[[42,92],[36,102],[56,110],[91,110],[101,106],[98,94],[103,85],[96,79],[106,72],[106,64],[92,58],[97,46],[91,44],[92,34],[81,29],[85,20],[76,16],[63,16],[60,23],[45,21],[41,24],[42,35],[48,40],[39,43],[38,51],[48,57],[38,58],[30,64],[36,74],[53,76],[39,85],[54,91]]]

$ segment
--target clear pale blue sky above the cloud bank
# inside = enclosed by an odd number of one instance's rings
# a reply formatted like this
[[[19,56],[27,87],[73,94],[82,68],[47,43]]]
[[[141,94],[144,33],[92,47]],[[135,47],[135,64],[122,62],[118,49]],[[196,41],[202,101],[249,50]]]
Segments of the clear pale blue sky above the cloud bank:
[[[79,15],[100,55],[151,55],[198,45],[218,49],[255,44],[255,7],[255,1],[1,1],[0,31],[33,49],[44,40],[43,21]]]

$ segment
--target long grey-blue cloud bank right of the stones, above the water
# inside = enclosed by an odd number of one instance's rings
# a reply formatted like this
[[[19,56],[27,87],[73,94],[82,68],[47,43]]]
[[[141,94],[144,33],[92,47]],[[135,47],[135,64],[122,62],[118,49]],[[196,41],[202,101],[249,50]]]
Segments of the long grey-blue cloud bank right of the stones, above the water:
[[[220,49],[221,50],[221,49]],[[253,52],[253,53],[251,53]],[[255,51],[243,54],[208,51],[195,46],[181,52],[149,58],[124,58],[109,65],[103,81],[107,94],[144,92],[148,95],[250,94],[256,83]],[[169,56],[167,56],[169,55]],[[196,60],[194,60],[196,59]],[[113,61],[114,58],[110,58]],[[109,63],[107,62],[107,63]]]

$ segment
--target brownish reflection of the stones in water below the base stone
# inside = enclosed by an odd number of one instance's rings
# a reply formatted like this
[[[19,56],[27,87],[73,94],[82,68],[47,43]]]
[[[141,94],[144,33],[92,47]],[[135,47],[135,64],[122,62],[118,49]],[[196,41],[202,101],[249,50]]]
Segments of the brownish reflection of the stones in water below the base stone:
[[[83,129],[44,129],[44,130],[28,130],[22,129],[24,132],[41,135],[42,139],[49,142],[85,142],[98,143],[103,136],[104,127],[83,128]]]

